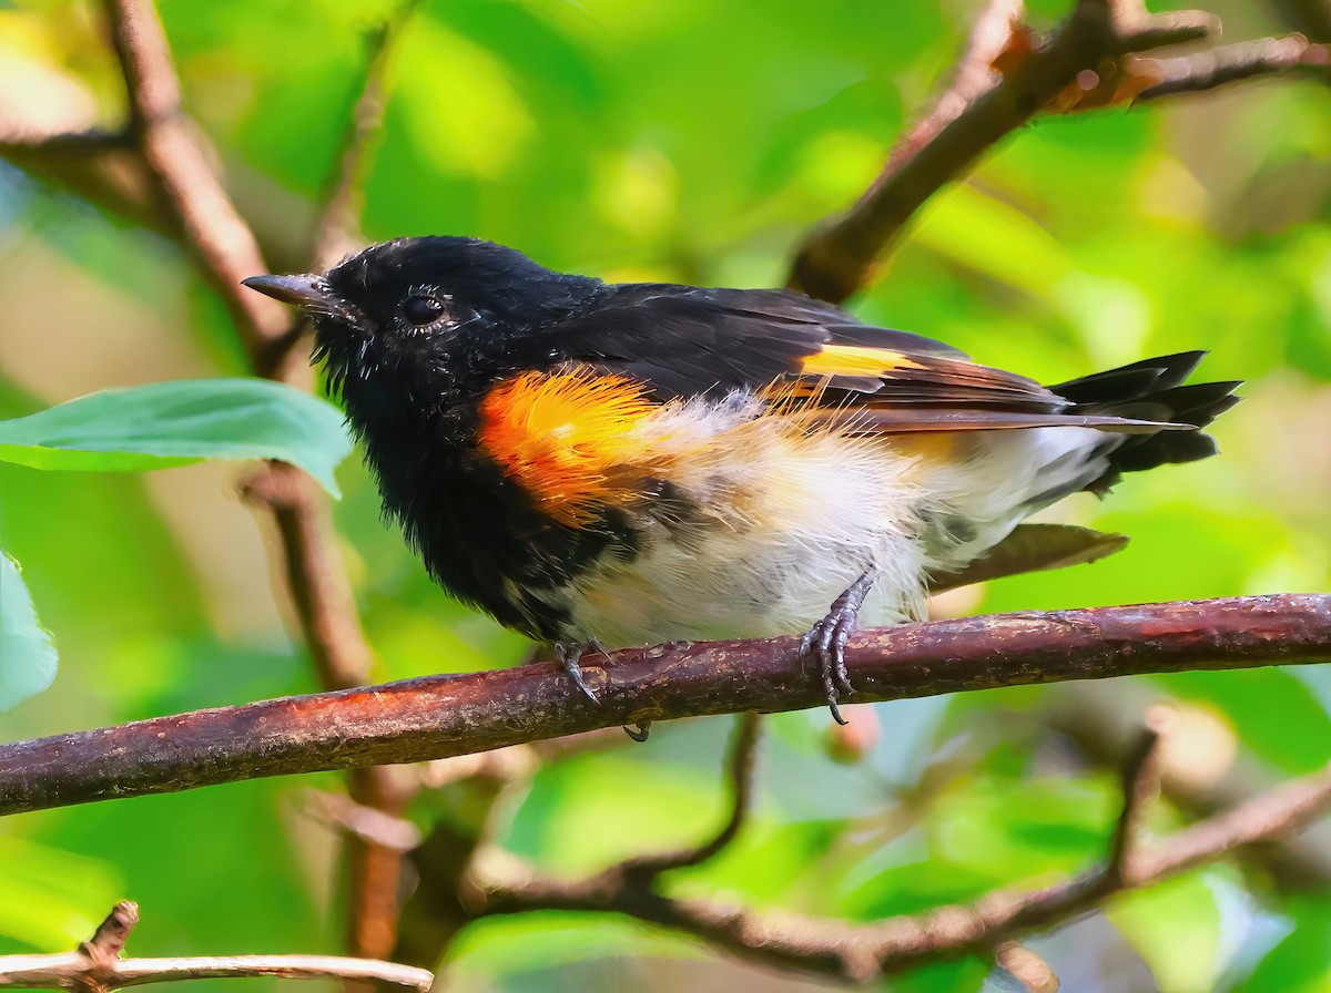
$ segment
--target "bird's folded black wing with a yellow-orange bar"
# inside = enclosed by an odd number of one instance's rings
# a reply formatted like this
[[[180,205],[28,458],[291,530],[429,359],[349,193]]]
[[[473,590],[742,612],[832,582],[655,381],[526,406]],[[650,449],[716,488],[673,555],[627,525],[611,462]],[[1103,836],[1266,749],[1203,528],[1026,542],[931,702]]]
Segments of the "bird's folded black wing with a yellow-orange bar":
[[[614,286],[600,307],[552,328],[550,343],[570,362],[647,384],[659,401],[803,386],[812,403],[872,433],[1145,425],[1071,412],[1030,379],[785,290]]]

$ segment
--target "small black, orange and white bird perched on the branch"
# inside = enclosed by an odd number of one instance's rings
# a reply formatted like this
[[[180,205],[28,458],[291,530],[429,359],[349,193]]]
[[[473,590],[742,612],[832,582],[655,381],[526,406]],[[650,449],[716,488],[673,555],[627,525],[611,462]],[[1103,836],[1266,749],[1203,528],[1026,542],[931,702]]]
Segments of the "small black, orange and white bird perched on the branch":
[[[430,576],[592,702],[591,650],[803,634],[844,723],[858,625],[1102,554],[1117,536],[1067,552],[1024,522],[1214,455],[1202,428],[1238,401],[1186,382],[1202,351],[1041,386],[789,290],[607,283],[476,238],[244,283],[311,318]]]

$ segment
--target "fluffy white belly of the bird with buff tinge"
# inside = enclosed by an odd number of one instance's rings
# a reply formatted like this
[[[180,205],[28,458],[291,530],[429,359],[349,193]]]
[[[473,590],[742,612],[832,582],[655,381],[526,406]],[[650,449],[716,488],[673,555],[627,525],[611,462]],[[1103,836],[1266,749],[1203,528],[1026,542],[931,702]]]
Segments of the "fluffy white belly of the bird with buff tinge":
[[[932,569],[960,568],[1006,537],[1034,509],[1026,501],[1058,484],[1045,467],[1075,464],[1105,437],[1085,428],[933,441],[792,436],[777,419],[728,433],[740,432],[740,444],[679,461],[671,479],[701,508],[696,520],[635,513],[636,556],[607,557],[562,592],[567,637],[614,649],[800,633],[868,569],[877,580],[862,625],[920,618]]]

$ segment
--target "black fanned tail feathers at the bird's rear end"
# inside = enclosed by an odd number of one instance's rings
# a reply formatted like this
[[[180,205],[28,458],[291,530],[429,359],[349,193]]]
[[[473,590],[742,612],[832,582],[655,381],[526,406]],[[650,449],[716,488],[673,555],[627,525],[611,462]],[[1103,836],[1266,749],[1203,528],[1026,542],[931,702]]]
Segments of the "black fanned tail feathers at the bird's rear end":
[[[1154,469],[1169,463],[1190,463],[1215,455],[1215,439],[1201,431],[1239,401],[1230,383],[1190,383],[1206,352],[1179,352],[1134,362],[1107,372],[1049,387],[1073,404],[1077,413],[1139,417],[1189,424],[1198,431],[1161,431],[1155,435],[1125,435],[1109,456],[1110,471],[1087,489],[1102,493],[1125,472]]]

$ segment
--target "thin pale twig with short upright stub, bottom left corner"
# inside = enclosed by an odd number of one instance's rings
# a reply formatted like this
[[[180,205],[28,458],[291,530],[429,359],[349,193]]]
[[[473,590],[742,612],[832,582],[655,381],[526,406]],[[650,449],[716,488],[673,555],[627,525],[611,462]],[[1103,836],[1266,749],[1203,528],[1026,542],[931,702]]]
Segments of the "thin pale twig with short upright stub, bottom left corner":
[[[0,956],[0,988],[60,989],[89,993],[178,980],[276,976],[287,980],[361,980],[426,993],[434,976],[395,962],[318,954],[242,954],[192,958],[121,958],[125,938],[138,923],[138,907],[116,904],[77,952]]]

